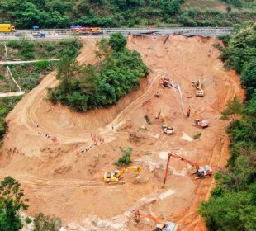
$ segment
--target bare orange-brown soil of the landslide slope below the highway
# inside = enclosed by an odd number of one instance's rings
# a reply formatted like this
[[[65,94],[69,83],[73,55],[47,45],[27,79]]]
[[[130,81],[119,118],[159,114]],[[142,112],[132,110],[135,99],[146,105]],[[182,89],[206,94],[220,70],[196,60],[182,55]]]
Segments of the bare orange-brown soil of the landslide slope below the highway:
[[[185,163],[172,160],[172,173],[162,189],[163,156],[174,151],[200,166],[209,164],[214,171],[224,167],[229,155],[228,122],[219,120],[220,111],[227,101],[235,95],[242,97],[244,92],[239,77],[225,71],[218,59],[215,38],[171,36],[165,45],[164,39],[130,36],[128,47],[140,52],[150,74],[142,80],[139,91],[130,92],[116,106],[83,114],[53,106],[46,100],[46,88],[58,82],[55,73],[50,73],[7,116],[9,132],[1,149],[0,177],[11,175],[21,181],[30,199],[28,214],[55,214],[65,225],[75,223],[86,230],[102,230],[95,223],[93,229],[88,228],[92,215],[107,220],[117,220],[113,217],[119,215],[126,224],[106,230],[152,230],[152,221],[142,219],[137,226],[133,224],[131,212],[143,210],[159,219],[175,219],[181,230],[206,230],[197,209],[199,202],[210,196],[214,179],[195,180]],[[96,62],[95,49],[96,40],[86,40],[78,61]],[[211,120],[210,127],[200,130],[192,125],[193,116],[185,118],[178,91],[159,87],[163,76],[180,84],[185,111],[191,106],[192,112],[197,110]],[[195,97],[191,80],[197,78],[204,82],[205,97]],[[157,91],[159,98],[154,96]],[[160,109],[168,115],[175,134],[162,133],[162,122],[154,119]],[[192,137],[198,132],[200,139],[182,139],[183,133]],[[47,139],[45,133],[57,142]],[[105,143],[82,153],[92,144],[94,133],[101,134]],[[128,146],[133,148],[133,164],[144,166],[140,182],[129,172],[123,178],[126,184],[105,184],[103,172],[116,168],[112,163],[120,158],[120,147]],[[153,202],[146,202],[152,198]]]

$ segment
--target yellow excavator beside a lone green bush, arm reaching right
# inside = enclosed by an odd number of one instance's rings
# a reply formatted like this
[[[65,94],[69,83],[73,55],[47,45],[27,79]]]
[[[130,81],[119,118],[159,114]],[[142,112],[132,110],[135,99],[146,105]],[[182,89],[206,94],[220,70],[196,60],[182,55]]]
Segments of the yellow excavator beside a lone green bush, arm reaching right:
[[[123,167],[121,170],[115,170],[114,172],[105,172],[104,173],[104,182],[119,182],[121,176],[127,171],[135,171],[135,177],[138,179],[140,176],[140,172],[142,171],[143,167],[138,166],[130,166],[130,167]]]

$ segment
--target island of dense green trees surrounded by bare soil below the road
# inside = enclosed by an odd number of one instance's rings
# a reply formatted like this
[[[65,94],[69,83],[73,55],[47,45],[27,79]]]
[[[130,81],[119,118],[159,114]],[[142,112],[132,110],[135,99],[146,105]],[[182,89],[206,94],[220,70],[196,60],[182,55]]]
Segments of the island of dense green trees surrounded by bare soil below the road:
[[[59,62],[59,86],[49,90],[50,100],[61,102],[75,111],[110,106],[140,86],[148,68],[140,54],[126,49],[126,38],[119,34],[97,44],[97,64],[79,65],[64,57]]]

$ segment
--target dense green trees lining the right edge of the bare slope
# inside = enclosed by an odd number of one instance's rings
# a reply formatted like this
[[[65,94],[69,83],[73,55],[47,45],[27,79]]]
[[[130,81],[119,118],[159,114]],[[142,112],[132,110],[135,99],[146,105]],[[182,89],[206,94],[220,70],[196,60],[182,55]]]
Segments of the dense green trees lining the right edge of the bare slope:
[[[227,42],[227,40],[225,40]],[[227,170],[216,173],[217,184],[200,213],[211,230],[256,230],[256,24],[243,26],[230,38],[222,59],[241,74],[246,103],[230,101],[230,159]],[[240,119],[237,114],[241,114]]]

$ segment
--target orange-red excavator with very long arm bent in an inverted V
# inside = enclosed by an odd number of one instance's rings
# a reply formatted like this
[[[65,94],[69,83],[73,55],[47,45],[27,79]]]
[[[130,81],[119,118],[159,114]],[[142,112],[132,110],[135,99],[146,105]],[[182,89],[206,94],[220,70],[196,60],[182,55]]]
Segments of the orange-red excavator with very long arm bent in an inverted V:
[[[168,153],[168,159],[167,159],[166,168],[165,168],[163,187],[164,187],[166,179],[168,177],[168,168],[169,168],[170,158],[178,158],[181,161],[184,161],[184,162],[192,165],[192,167],[196,167],[197,172],[194,172],[193,174],[197,174],[197,179],[211,177],[211,175],[212,175],[212,169],[211,169],[211,167],[209,165],[204,165],[202,167],[199,167],[199,165],[197,163],[195,163],[195,162],[192,162],[190,160],[187,160],[186,158],[180,157],[180,156],[178,156],[175,153]]]

